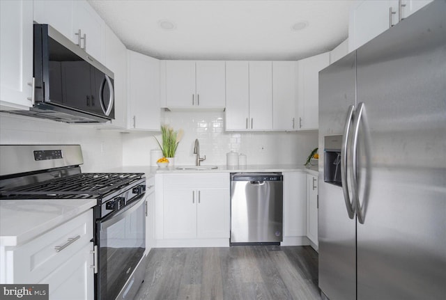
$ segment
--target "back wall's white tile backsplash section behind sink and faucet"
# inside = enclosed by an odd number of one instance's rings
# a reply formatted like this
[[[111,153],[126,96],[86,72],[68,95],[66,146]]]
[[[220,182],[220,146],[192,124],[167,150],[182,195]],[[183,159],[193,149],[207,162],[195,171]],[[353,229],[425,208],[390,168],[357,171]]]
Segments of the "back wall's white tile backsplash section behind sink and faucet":
[[[194,141],[199,139],[201,164],[226,164],[226,152],[247,155],[247,164],[304,164],[318,146],[314,132],[225,132],[224,112],[168,111],[164,124],[183,129],[184,136],[176,152],[176,165],[195,164]],[[160,134],[156,135],[160,139]],[[159,148],[153,134],[147,132],[123,136],[123,164],[150,164],[150,150]]]

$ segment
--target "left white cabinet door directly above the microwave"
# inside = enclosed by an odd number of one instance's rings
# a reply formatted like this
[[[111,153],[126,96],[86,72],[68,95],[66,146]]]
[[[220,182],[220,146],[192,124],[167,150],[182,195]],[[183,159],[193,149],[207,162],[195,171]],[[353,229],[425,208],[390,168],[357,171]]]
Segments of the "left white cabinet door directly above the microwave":
[[[49,24],[56,31],[72,39],[72,1],[38,0],[33,3],[34,21],[39,24]]]

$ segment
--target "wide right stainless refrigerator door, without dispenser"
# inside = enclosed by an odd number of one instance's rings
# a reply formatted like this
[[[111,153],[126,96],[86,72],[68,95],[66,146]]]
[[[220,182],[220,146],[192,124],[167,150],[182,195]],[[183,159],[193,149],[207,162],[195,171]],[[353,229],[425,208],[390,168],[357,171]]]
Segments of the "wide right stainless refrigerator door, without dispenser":
[[[445,299],[445,16],[434,1],[357,49],[360,300]]]

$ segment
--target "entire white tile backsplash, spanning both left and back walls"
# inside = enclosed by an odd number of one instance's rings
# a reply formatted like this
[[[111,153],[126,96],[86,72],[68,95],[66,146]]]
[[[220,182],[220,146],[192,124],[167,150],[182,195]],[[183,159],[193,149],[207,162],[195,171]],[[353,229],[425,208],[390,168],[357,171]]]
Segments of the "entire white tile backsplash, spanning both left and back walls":
[[[318,144],[317,132],[225,132],[224,112],[164,112],[165,124],[183,129],[176,165],[195,164],[194,141],[199,139],[201,164],[226,164],[226,153],[247,155],[247,164],[304,164]],[[160,139],[160,134],[156,135]],[[124,166],[148,166],[150,150],[158,148],[153,133],[121,134],[92,125],[70,125],[38,118],[0,114],[2,144],[80,144],[84,172]]]

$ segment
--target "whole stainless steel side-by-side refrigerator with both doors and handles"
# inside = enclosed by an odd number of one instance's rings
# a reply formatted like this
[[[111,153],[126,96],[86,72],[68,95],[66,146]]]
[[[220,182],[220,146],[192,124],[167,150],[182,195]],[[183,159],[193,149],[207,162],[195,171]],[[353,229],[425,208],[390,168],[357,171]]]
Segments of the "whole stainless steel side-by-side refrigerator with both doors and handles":
[[[323,298],[445,300],[446,1],[325,68],[319,84]]]

